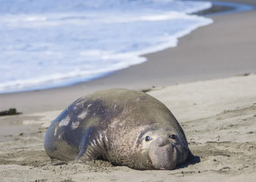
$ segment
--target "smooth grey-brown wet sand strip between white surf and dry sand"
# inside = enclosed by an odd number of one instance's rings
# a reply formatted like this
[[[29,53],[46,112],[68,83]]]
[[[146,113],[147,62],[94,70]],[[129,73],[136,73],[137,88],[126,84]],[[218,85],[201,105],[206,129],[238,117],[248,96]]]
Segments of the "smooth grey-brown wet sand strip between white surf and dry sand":
[[[223,1],[256,6],[253,0]],[[3,103],[0,111],[8,108],[17,108],[23,113],[61,110],[73,100],[104,88],[141,90],[152,86],[163,87],[255,73],[256,63],[253,57],[256,56],[253,51],[254,43],[251,41],[253,32],[256,31],[253,22],[255,14],[256,11],[253,10],[209,16],[214,20],[213,24],[181,37],[177,47],[143,55],[148,59],[146,62],[115,71],[105,77],[66,87],[0,94],[0,103]],[[243,34],[248,31],[246,27],[251,29],[249,33]],[[247,59],[244,61],[244,58]]]

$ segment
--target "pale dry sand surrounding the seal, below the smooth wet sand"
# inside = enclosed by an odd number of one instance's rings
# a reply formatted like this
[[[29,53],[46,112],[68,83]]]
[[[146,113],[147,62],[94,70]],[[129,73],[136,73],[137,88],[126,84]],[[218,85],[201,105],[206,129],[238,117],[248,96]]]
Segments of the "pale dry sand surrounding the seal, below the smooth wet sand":
[[[47,126],[61,111],[1,117],[0,181],[192,181],[256,179],[256,75],[154,88],[200,157],[173,171],[137,171],[108,162],[52,166]]]

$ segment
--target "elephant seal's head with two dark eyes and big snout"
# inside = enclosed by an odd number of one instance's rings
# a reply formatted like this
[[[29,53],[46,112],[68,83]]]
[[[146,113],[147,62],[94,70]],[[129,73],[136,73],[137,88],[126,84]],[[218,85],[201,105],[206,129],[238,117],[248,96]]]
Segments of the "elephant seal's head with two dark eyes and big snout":
[[[149,128],[140,135],[143,151],[154,169],[172,170],[186,161],[187,142],[172,128]]]

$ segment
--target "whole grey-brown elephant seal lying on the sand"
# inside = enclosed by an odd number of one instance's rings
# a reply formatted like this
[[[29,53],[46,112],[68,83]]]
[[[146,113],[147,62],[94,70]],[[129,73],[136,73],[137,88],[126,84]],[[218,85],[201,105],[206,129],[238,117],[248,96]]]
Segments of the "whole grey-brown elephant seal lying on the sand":
[[[172,170],[193,157],[171,111],[142,91],[124,88],[74,101],[49,126],[44,148],[55,165],[102,159],[138,170]]]

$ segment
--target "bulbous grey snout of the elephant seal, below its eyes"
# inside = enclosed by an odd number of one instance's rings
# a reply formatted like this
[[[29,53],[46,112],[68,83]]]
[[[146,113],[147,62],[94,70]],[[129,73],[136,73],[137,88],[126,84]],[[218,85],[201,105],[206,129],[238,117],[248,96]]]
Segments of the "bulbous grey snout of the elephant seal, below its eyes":
[[[177,164],[177,148],[167,137],[159,137],[150,144],[149,157],[157,170],[172,170]]]

